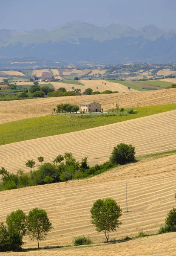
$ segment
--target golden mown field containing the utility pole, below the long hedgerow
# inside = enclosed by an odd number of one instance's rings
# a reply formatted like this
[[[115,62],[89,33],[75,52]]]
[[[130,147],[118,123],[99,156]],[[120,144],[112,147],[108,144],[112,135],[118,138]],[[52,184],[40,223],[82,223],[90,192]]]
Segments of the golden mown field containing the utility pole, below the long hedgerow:
[[[54,230],[41,246],[68,245],[74,236],[90,236],[95,243],[104,241],[90,222],[90,208],[98,198],[112,197],[123,209],[122,226],[111,239],[135,236],[139,231],[156,233],[167,212],[175,207],[176,154],[115,168],[88,180],[74,180],[44,186],[0,192],[0,221],[16,209],[26,213],[34,207],[48,212]],[[126,187],[128,182],[128,211]],[[26,247],[36,241],[26,238]]]

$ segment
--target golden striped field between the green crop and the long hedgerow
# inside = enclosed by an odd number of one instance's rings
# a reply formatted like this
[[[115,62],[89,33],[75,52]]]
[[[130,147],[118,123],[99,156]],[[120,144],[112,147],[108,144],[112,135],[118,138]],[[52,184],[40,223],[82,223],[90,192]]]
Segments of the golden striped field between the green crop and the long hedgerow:
[[[88,156],[90,165],[108,160],[118,143],[135,146],[136,154],[153,154],[176,149],[176,110],[145,116],[138,119],[60,134],[34,140],[26,140],[0,146],[0,166],[9,172],[23,169],[25,162],[43,156],[51,162],[59,154],[72,152],[77,160]],[[10,152],[10,160],[9,160]]]

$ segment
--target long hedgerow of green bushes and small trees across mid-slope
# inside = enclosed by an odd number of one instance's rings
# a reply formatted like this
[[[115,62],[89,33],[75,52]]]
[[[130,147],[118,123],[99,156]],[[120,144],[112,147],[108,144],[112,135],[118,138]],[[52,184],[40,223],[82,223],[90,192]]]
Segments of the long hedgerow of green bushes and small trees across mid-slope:
[[[26,162],[26,166],[30,168],[30,173],[27,174],[23,170],[18,170],[17,174],[9,173],[2,167],[0,169],[0,175],[2,175],[1,191],[97,175],[117,165],[134,162],[135,148],[132,145],[121,143],[114,147],[109,161],[102,165],[96,164],[92,167],[88,165],[88,157],[82,158],[79,163],[70,152],[66,152],[64,155],[58,155],[53,163],[43,164],[43,157],[38,157],[38,160],[41,165],[33,172],[32,169],[35,166],[35,161],[28,160]]]

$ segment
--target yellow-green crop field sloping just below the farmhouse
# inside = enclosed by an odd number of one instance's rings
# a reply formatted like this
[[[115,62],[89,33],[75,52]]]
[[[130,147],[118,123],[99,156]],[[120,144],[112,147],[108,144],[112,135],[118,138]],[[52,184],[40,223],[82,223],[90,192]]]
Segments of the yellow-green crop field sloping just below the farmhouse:
[[[128,116],[106,116],[100,113],[98,115],[67,114],[23,119],[0,125],[0,145],[85,130],[174,109],[176,109],[176,104],[140,107],[139,113]]]

